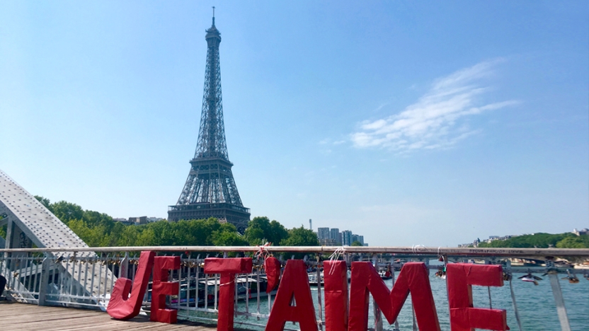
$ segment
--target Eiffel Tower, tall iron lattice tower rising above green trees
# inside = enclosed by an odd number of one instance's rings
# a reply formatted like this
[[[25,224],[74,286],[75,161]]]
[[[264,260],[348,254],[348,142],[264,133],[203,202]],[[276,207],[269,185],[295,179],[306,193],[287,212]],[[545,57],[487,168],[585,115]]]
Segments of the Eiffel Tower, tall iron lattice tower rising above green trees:
[[[168,221],[215,217],[244,233],[250,213],[241,203],[227,154],[219,63],[221,33],[215,27],[215,7],[206,33],[207,68],[196,152],[178,202],[168,207]]]

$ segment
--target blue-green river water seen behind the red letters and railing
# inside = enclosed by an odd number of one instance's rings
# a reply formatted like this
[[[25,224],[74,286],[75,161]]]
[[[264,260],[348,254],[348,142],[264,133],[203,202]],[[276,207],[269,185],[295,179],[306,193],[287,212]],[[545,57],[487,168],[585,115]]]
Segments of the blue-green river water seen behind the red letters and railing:
[[[398,274],[398,272],[397,272]],[[516,274],[515,277],[520,277],[521,274]],[[559,274],[559,278],[564,275]],[[561,288],[564,295],[566,309],[568,312],[568,319],[571,323],[571,330],[587,331],[589,330],[589,281],[583,277],[581,273],[577,274],[580,282],[577,284],[570,284],[568,280],[561,280]],[[539,281],[539,285],[535,286],[533,283],[521,281],[520,279],[513,279],[513,289],[515,291],[515,299],[517,301],[517,309],[520,312],[520,319],[522,322],[522,330],[527,331],[555,331],[561,330],[559,318],[556,313],[556,306],[554,304],[554,296],[548,277],[542,277],[544,280]],[[392,287],[392,281],[387,280],[385,283]],[[432,286],[433,296],[435,299],[435,308],[438,310],[438,318],[440,320],[440,327],[442,330],[450,330],[450,320],[448,318],[448,301],[446,292],[445,280],[439,279],[430,272],[430,284]],[[488,289],[487,287],[473,286],[473,300],[474,306],[480,308],[488,308]],[[311,294],[313,295],[315,303],[317,302],[316,288],[311,287]],[[372,301],[372,299],[371,299]],[[491,287],[491,303],[493,308],[500,308],[507,310],[508,325],[511,330],[518,330],[517,322],[515,320],[515,313],[511,301],[509,290],[509,282],[505,281],[503,287]],[[256,301],[252,300],[249,304],[250,312],[256,311]],[[238,303],[239,310],[244,310],[245,302]],[[317,307],[317,306],[316,306]],[[261,300],[261,313],[268,312],[268,300],[263,298]],[[319,314],[318,314],[319,316]],[[255,318],[246,320],[243,316],[236,317],[235,326],[239,328],[248,328],[259,330],[256,327],[248,325],[240,325],[238,322],[243,320],[248,323],[261,323],[263,320],[256,322]],[[297,325],[287,323],[287,328],[298,329]],[[372,325],[372,303],[370,307],[370,322]],[[394,330],[394,326],[389,325],[385,319],[383,322],[384,330]],[[399,329],[413,330],[413,318],[411,314],[411,296],[407,299],[404,307],[399,315]]]

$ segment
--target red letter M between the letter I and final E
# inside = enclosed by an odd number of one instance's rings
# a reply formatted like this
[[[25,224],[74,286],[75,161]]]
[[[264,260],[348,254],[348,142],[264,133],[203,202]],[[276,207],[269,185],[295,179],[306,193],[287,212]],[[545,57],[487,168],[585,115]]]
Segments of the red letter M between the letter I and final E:
[[[394,323],[401,307],[411,291],[417,325],[421,331],[440,331],[438,313],[435,311],[428,269],[424,263],[408,262],[401,269],[399,278],[389,292],[387,285],[370,262],[352,263],[350,284],[349,331],[365,331],[368,328],[368,293],[372,294],[389,324]],[[327,303],[326,303],[327,305]],[[326,313],[327,315],[327,313]]]

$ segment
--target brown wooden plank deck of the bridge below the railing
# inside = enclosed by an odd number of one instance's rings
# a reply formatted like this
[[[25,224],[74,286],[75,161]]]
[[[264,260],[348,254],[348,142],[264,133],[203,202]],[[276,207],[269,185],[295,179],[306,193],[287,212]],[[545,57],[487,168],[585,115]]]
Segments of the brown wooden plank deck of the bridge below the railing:
[[[151,322],[144,316],[132,320],[113,320],[107,313],[64,307],[35,306],[0,301],[1,330],[171,330],[210,331],[211,325],[179,321],[178,324]]]

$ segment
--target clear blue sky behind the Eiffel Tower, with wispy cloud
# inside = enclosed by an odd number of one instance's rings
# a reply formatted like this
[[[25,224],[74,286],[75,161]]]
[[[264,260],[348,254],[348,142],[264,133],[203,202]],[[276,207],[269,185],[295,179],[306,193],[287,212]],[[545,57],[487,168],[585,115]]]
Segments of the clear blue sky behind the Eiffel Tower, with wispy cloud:
[[[589,226],[584,1],[0,0],[0,169],[52,201],[166,216],[211,6],[252,216],[370,245]]]

